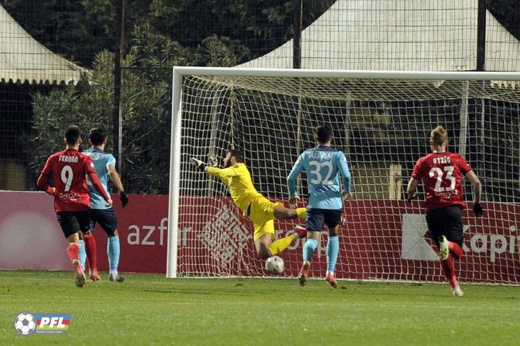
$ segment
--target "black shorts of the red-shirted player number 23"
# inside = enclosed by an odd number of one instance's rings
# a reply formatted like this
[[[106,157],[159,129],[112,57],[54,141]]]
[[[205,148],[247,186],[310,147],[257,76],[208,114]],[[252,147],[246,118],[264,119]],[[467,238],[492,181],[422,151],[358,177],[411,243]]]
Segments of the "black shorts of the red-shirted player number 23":
[[[462,247],[464,233],[462,231],[462,208],[460,206],[426,210],[426,224],[428,224],[428,234],[437,244],[437,247],[441,235]]]

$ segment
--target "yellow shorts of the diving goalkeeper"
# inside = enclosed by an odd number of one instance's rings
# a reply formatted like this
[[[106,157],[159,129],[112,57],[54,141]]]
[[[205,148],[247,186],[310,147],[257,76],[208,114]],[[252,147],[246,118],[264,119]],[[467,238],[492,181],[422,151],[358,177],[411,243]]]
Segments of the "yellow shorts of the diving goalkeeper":
[[[249,219],[254,226],[254,242],[266,233],[275,239],[275,206],[284,206],[284,203],[271,202],[266,197],[257,197],[251,201]]]

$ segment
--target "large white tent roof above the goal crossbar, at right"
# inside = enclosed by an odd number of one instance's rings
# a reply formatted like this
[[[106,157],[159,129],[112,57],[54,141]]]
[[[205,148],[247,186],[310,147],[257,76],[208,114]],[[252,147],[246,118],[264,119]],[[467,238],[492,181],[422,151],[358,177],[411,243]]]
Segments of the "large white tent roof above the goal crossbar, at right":
[[[302,32],[302,69],[476,70],[477,0],[338,0]],[[487,12],[486,71],[520,71],[520,42]],[[293,67],[293,40],[237,67]]]

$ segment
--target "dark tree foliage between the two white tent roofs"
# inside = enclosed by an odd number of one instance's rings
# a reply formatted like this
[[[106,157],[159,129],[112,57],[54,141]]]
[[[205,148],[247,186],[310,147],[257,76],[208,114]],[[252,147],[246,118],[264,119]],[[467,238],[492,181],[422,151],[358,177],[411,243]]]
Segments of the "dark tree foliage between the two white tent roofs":
[[[304,1],[304,26],[334,0]],[[2,5],[38,42],[54,53],[90,68],[96,53],[113,51],[116,42],[114,0],[3,0]],[[208,46],[236,51],[236,62],[258,57],[293,35],[293,1],[279,0],[126,0],[125,45],[131,50],[136,26],[191,48],[190,65],[216,66]],[[130,30],[128,30],[130,29]],[[218,39],[216,39],[218,37]],[[199,49],[202,48],[202,49]],[[223,60],[223,65],[232,61]],[[205,66],[205,65],[202,65]]]

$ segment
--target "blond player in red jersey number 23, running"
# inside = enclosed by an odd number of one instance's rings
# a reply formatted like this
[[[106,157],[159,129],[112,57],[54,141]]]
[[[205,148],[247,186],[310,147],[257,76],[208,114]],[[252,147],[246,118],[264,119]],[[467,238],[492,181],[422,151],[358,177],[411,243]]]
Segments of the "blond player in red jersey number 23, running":
[[[466,203],[462,197],[462,174],[474,188],[473,212],[482,215],[480,205],[481,185],[475,172],[459,154],[447,152],[448,134],[442,126],[431,131],[430,146],[432,153],[419,158],[408,182],[408,201],[417,197],[417,184],[424,183],[426,192],[426,224],[428,234],[439,248],[440,265],[444,276],[451,286],[453,295],[462,296],[458,284],[453,257],[462,257],[461,211]]]

